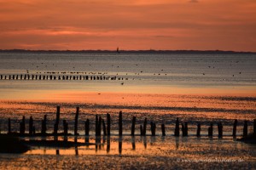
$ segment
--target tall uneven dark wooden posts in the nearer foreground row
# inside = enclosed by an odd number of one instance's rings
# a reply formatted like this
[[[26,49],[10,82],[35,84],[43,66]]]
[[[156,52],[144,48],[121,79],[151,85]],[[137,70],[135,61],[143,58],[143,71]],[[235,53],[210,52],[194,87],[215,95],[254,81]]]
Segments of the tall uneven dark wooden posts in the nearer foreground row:
[[[54,125],[54,132],[52,133],[53,135],[59,135],[61,133],[58,133],[59,130],[59,123],[60,123],[60,113],[61,113],[61,107],[57,106],[57,111],[56,111],[56,119],[55,119],[55,125]],[[41,128],[41,135],[46,135],[47,127],[46,127],[46,122],[47,122],[47,116],[44,115],[44,120],[42,120],[42,128]],[[78,133],[78,122],[79,122],[79,107],[77,107],[76,114],[75,114],[75,122],[74,122],[74,135],[79,135]],[[107,114],[107,127],[105,124],[104,119],[102,119],[102,116],[97,116],[96,115],[96,126],[95,126],[95,132],[96,136],[100,136],[102,134],[102,127],[103,127],[103,135],[111,135],[110,129],[111,129],[111,117],[110,114]],[[148,120],[147,118],[144,119],[143,125],[140,125],[140,134],[142,136],[146,135],[147,131],[147,123]],[[131,136],[135,135],[135,124],[136,124],[136,116],[132,117],[132,122],[131,122]],[[177,118],[176,123],[175,123],[175,129],[174,129],[174,136],[180,136],[180,124],[181,124],[181,130],[182,130],[182,135],[183,136],[188,136],[188,122],[179,122],[179,119]],[[234,125],[233,125],[233,137],[236,138],[236,126],[237,126],[237,120],[235,120]],[[248,132],[247,132],[247,127],[248,123],[247,121],[244,122],[243,126],[243,137],[247,137]],[[11,132],[11,120],[9,119],[9,124],[8,124],[8,133]],[[68,123],[66,120],[63,120],[63,128],[64,132],[63,135],[67,135],[68,133]],[[155,136],[155,129],[156,125],[154,122],[150,122],[150,130],[151,130],[151,135]],[[1,132],[1,130],[0,130]],[[25,134],[26,132],[26,123],[25,123],[25,116],[22,117],[22,120],[20,122],[20,134]],[[90,120],[87,119],[84,122],[84,132],[85,135],[89,135],[90,132]],[[162,136],[166,136],[166,127],[165,124],[161,124],[161,132]],[[33,126],[33,118],[30,116],[29,119],[29,134],[30,135],[35,135],[35,127]],[[119,112],[119,136],[123,135],[123,120],[122,120],[122,111]],[[212,137],[213,135],[213,123],[210,124],[208,127],[208,136]],[[256,135],[256,119],[253,121],[253,135]],[[196,136],[200,137],[201,136],[201,123],[197,124],[197,131],[196,131]],[[223,136],[223,125],[221,122],[218,122],[218,137],[222,138]]]

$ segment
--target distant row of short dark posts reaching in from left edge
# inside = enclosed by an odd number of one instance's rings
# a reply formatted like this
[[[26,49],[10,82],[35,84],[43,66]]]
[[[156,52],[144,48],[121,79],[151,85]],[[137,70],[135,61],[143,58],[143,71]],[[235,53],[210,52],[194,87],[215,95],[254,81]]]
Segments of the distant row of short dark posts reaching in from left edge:
[[[104,76],[53,76],[53,75],[0,75],[0,80],[128,80],[123,77]]]

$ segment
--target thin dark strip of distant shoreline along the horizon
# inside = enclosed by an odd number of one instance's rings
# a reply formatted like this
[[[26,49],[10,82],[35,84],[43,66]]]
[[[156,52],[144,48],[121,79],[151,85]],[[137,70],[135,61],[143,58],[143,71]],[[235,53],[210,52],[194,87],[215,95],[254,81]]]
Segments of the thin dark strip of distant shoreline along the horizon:
[[[119,50],[121,54],[256,54],[256,52],[222,51],[222,50]],[[92,53],[118,54],[115,50],[30,50],[0,49],[0,53]]]

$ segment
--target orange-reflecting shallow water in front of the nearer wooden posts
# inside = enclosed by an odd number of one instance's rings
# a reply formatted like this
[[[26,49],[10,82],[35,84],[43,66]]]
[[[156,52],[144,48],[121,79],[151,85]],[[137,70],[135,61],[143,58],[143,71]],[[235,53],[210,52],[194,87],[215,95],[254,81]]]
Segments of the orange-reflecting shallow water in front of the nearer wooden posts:
[[[72,137],[73,138],[73,137]],[[69,140],[73,140],[71,137]],[[61,139],[61,137],[59,138]],[[84,141],[84,136],[79,137]],[[95,137],[90,136],[90,143]],[[33,147],[0,155],[7,169],[253,169],[255,145],[230,137],[111,136],[70,149]]]

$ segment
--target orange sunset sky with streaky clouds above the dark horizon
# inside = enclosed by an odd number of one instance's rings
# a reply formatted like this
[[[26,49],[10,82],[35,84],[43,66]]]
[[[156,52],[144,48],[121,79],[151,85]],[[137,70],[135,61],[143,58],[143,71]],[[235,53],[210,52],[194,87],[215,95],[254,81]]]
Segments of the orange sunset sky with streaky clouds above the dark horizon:
[[[0,0],[0,48],[256,52],[255,0]]]

